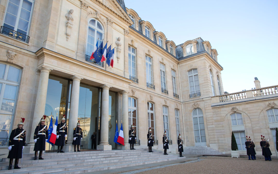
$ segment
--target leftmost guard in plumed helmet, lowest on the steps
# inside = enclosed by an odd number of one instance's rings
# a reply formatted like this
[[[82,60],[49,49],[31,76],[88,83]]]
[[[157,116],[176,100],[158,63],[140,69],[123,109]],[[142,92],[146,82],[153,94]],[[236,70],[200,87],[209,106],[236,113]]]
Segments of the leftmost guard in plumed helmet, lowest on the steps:
[[[18,128],[12,130],[10,139],[9,139],[9,155],[10,158],[9,168],[8,170],[12,169],[13,159],[14,161],[14,169],[20,169],[21,167],[18,166],[19,158],[22,158],[22,150],[25,146],[25,139],[26,139],[26,131],[23,129],[23,122],[24,118],[21,118],[21,121],[18,123]]]

